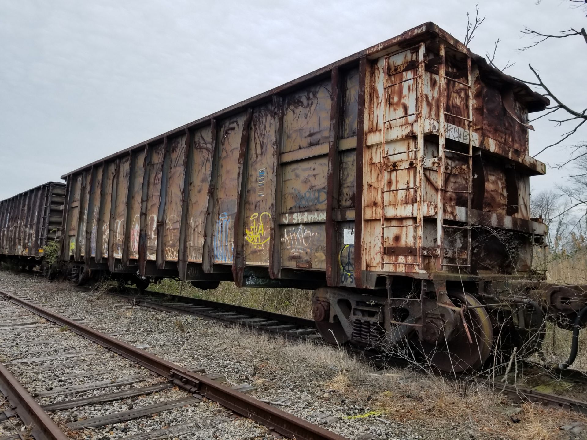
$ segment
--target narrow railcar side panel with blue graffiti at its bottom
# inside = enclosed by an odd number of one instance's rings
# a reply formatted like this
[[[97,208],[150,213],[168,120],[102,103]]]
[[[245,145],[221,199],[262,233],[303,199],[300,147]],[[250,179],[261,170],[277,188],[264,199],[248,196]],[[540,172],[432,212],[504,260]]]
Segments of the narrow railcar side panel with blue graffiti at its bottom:
[[[218,175],[214,218],[214,263],[232,264],[234,219],[237,214],[238,153],[245,113],[224,120],[218,128]]]

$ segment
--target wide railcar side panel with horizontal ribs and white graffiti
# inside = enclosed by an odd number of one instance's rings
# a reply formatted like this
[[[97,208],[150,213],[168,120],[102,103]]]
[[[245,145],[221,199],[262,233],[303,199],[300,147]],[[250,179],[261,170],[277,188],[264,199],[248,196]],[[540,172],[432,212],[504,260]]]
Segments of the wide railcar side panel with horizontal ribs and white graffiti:
[[[281,162],[281,265],[326,268],[331,82],[286,97]]]

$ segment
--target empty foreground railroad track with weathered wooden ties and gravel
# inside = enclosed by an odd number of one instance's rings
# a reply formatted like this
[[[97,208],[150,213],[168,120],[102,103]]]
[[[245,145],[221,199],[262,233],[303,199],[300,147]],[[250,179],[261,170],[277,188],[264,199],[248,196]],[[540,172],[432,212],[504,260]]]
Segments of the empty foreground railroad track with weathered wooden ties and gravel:
[[[244,392],[252,388],[249,384],[225,386],[218,382],[218,374],[204,373],[197,365],[181,367],[131,345],[129,338],[102,333],[86,326],[82,319],[57,313],[26,297],[0,292],[0,299],[0,356],[5,364],[0,365],[0,389],[12,406],[0,412],[0,419],[19,417],[23,426],[32,427],[36,440],[63,440],[85,429],[106,429],[171,410],[189,413],[190,422],[164,428],[163,421],[159,427],[131,432],[127,438],[153,440],[190,434],[241,416],[289,438],[344,439],[255,400]],[[84,371],[68,374],[68,368],[79,365]],[[9,369],[18,370],[15,374],[19,378]],[[62,385],[45,387],[48,376]],[[96,381],[99,377],[106,380]],[[109,388],[126,385],[126,389],[109,392]],[[73,397],[62,400],[63,396]],[[165,397],[162,402],[161,396]],[[135,397],[142,398],[138,408],[108,414],[96,409],[104,402],[109,408],[120,408],[121,402]],[[198,404],[204,398],[222,405],[221,414],[200,411]],[[15,432],[3,440],[19,438]]]

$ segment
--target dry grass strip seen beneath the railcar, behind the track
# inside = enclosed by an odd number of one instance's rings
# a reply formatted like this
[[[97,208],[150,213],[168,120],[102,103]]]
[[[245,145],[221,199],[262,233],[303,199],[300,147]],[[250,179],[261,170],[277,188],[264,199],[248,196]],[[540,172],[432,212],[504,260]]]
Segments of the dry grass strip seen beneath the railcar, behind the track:
[[[214,290],[201,290],[189,282],[164,279],[157,285],[149,286],[149,290],[185,295],[196,298],[252,307],[268,312],[277,312],[298,316],[312,317],[312,291],[300,289],[241,289],[231,282],[221,282]]]

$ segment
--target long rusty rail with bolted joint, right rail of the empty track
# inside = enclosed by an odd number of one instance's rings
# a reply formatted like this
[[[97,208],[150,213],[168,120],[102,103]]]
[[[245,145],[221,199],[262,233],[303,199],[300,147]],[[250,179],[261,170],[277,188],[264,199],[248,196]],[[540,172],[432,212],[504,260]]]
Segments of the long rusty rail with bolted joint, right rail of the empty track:
[[[38,304],[31,303],[7,292],[0,291],[0,296],[25,307],[49,321],[66,326],[74,333],[108,348],[114,351],[114,353],[118,353],[130,361],[142,365],[158,375],[168,378],[173,384],[188,392],[218,402],[237,414],[250,418],[258,424],[279,432],[279,434],[290,436],[297,440],[345,440],[345,437],[335,434],[335,432],[328,431],[281,409],[274,408],[242,392],[231,390],[231,388],[225,387],[214,380],[192,373],[177,364],[154,356],[147,351],[136,348],[131,344],[115,339],[91,327],[79,324],[58,313],[51,312]]]

